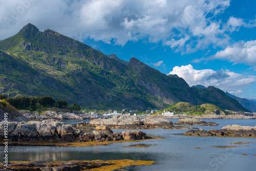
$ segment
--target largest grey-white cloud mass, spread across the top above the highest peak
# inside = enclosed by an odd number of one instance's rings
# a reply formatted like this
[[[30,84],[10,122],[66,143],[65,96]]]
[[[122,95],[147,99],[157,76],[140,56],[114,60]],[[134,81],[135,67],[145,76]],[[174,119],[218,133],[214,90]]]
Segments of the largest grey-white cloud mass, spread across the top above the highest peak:
[[[227,44],[221,22],[211,20],[230,0],[20,0],[1,1],[0,39],[32,23],[78,40],[87,37],[117,45],[147,39],[176,52],[191,53],[210,44]],[[219,38],[222,37],[222,38]]]

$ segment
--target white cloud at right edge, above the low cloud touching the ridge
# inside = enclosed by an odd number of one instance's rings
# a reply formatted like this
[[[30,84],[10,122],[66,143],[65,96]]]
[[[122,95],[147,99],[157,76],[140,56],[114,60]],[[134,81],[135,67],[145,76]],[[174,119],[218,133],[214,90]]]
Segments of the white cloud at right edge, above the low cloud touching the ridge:
[[[225,50],[218,51],[209,59],[228,59],[234,63],[246,63],[250,66],[256,65],[256,40],[240,41]]]

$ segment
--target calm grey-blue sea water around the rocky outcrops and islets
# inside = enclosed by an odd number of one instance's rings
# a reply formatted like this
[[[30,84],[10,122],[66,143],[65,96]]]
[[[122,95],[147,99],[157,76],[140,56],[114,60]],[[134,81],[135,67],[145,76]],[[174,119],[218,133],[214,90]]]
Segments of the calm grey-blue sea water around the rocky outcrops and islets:
[[[178,122],[178,119],[170,119]],[[239,124],[255,126],[256,120],[223,119],[207,120],[217,122],[218,126],[195,126],[199,129],[221,129],[225,125]],[[80,122],[81,120],[77,121]],[[75,121],[72,121],[75,123]],[[113,130],[122,132],[124,130]],[[127,170],[256,170],[256,138],[230,137],[190,137],[182,136],[188,130],[140,130],[147,135],[165,139],[140,142],[113,143],[97,147],[28,147],[10,146],[9,160],[154,160],[159,164],[150,166],[132,166]],[[231,144],[233,142],[248,144]],[[150,147],[129,147],[129,145],[151,145]],[[233,146],[233,148],[215,148],[213,146]],[[3,147],[0,148],[1,158]],[[247,155],[243,155],[247,154]]]

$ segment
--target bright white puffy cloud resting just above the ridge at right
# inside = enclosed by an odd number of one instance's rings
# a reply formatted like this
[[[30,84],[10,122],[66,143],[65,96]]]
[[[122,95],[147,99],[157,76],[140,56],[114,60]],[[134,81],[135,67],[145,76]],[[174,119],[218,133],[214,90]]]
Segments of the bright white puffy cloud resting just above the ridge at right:
[[[182,77],[190,87],[200,84],[205,87],[214,86],[228,92],[242,91],[256,82],[256,76],[246,76],[222,69],[218,71],[211,69],[195,70],[190,64],[174,67],[169,74],[177,74]]]

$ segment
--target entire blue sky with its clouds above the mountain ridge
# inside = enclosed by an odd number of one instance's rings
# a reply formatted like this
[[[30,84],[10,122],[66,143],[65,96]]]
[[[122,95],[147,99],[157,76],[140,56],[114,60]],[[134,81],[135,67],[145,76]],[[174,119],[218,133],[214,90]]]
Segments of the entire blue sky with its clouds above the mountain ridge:
[[[256,2],[0,0],[0,39],[28,23],[104,54],[138,58],[189,86],[256,99]]]

